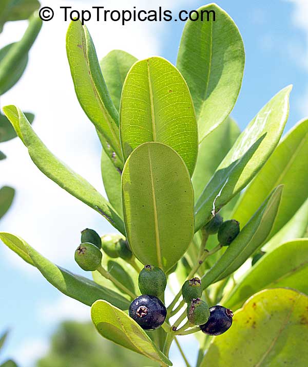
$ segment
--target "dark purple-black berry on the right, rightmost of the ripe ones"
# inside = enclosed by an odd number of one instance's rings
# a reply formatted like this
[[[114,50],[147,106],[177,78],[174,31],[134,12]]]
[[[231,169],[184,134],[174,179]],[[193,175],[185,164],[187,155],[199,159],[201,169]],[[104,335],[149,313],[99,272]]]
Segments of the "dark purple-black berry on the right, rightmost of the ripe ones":
[[[232,325],[232,318],[232,310],[219,305],[210,307],[209,319],[200,329],[204,334],[221,335]]]

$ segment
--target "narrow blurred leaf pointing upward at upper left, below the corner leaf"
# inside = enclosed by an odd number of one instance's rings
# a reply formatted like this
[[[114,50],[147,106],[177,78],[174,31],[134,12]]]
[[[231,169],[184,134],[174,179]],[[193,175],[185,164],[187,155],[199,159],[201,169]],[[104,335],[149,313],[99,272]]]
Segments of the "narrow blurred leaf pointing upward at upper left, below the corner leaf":
[[[30,50],[42,27],[38,14],[33,14],[23,38],[0,50],[0,95],[10,89],[22,76]]]

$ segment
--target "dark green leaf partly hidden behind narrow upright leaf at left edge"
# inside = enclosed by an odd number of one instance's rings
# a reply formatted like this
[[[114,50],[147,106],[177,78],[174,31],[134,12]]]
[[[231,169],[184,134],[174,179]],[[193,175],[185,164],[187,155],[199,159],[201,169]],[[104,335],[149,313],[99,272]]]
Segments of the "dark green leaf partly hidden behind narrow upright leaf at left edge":
[[[0,74],[2,69],[2,62],[9,54],[10,50],[16,47],[17,42],[6,45],[0,50]],[[0,84],[0,95],[5,94],[7,90],[11,89],[20,80],[28,64],[28,53],[21,56],[21,59],[16,64],[16,67],[6,76],[2,77]]]

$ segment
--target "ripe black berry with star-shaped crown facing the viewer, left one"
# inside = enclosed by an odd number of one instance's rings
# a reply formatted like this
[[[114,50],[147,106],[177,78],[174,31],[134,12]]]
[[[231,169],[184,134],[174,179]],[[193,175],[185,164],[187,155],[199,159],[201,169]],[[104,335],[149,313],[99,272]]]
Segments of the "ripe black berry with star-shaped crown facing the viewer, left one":
[[[157,297],[142,295],[131,302],[128,314],[144,330],[154,330],[164,323],[167,309]]]

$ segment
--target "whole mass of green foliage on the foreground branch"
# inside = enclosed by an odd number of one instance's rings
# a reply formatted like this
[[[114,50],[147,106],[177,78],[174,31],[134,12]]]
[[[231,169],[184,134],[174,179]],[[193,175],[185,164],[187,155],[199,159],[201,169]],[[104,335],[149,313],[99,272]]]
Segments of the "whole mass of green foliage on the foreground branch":
[[[20,109],[4,107],[38,169],[115,228],[102,243],[87,230],[76,250],[93,281],[21,237],[0,237],[61,292],[91,306],[103,337],[162,366],[172,365],[172,342],[181,350],[181,336],[194,334],[197,366],[301,367],[308,120],[281,138],[286,86],[240,132],[229,114],[243,77],[242,38],[217,5],[202,10],[215,10],[216,21],[186,23],[176,66],[120,50],[100,63],[87,28],[78,21],[68,28],[71,75],[102,143],[108,200],[47,149]],[[168,304],[164,279],[174,292]]]

